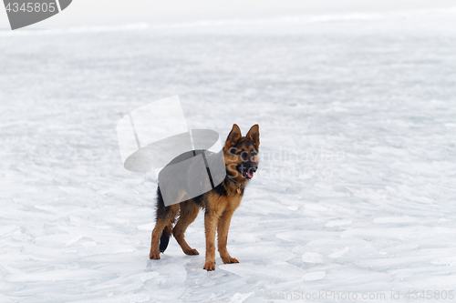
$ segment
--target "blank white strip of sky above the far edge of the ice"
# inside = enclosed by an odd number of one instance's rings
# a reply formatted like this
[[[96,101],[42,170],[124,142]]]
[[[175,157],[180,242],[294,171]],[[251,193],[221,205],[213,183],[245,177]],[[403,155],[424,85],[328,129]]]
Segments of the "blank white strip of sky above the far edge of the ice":
[[[220,18],[245,19],[284,15],[337,14],[347,12],[382,12],[389,10],[451,7],[451,0],[74,0],[70,10],[28,28],[53,28],[57,25],[99,25],[128,22],[175,23]],[[0,28],[9,26],[6,12],[0,10]]]

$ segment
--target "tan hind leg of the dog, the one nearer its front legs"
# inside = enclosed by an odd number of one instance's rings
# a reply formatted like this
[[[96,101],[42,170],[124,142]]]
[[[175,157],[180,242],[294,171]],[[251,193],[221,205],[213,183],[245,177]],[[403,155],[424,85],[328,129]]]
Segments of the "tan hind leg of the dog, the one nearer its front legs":
[[[196,203],[194,203],[192,200],[182,202],[180,207],[180,217],[176,223],[176,226],[172,229],[172,235],[174,235],[176,238],[177,243],[179,243],[185,255],[199,255],[200,253],[198,250],[193,249],[187,244],[184,234],[185,230],[187,230],[187,227],[191,225],[194,219],[198,216],[200,207],[196,205]]]

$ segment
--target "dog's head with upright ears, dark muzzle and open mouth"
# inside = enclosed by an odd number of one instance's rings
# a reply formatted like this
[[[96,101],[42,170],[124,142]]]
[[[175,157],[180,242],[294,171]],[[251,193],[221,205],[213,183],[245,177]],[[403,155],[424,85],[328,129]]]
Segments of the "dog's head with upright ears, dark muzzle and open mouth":
[[[244,182],[254,177],[260,158],[260,129],[257,124],[250,128],[246,136],[241,135],[241,129],[233,125],[230,135],[223,147],[223,156],[228,176],[237,182]]]

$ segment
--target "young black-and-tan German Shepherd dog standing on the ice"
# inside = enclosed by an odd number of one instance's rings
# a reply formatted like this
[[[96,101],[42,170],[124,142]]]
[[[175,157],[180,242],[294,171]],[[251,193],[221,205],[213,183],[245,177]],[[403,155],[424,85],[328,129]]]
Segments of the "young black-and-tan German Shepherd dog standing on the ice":
[[[223,182],[198,197],[165,207],[160,187],[157,188],[157,218],[152,231],[150,244],[151,259],[159,259],[160,253],[168,247],[172,235],[176,238],[186,255],[199,255],[198,250],[190,247],[184,238],[187,227],[198,216],[200,207],[204,209],[204,229],[206,233],[206,260],[203,269],[215,269],[215,231],[218,232],[218,249],[223,263],[239,263],[226,249],[228,229],[234,210],[241,204],[244,189],[258,169],[260,146],[259,126],[250,128],[246,136],[233,125],[223,146],[223,159],[226,177]],[[191,176],[189,176],[191,177]],[[172,227],[179,216],[177,223]]]

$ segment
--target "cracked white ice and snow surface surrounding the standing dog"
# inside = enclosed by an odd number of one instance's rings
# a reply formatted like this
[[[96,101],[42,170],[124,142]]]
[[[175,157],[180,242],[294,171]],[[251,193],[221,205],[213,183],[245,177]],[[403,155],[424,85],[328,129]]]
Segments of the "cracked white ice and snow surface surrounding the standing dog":
[[[0,32],[0,302],[454,294],[455,16]],[[202,269],[202,214],[200,256],[148,258],[156,184],[122,167],[116,125],[172,95],[192,128],[260,125],[239,264]]]

